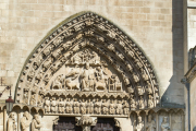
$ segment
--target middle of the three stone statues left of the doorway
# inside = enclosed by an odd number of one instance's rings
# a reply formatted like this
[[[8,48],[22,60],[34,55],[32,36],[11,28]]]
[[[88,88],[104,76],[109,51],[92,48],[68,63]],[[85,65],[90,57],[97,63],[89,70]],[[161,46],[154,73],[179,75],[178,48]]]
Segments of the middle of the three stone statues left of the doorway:
[[[30,116],[28,111],[25,111],[23,114],[23,118],[21,118],[21,130],[22,131],[29,131],[29,124],[30,124]]]

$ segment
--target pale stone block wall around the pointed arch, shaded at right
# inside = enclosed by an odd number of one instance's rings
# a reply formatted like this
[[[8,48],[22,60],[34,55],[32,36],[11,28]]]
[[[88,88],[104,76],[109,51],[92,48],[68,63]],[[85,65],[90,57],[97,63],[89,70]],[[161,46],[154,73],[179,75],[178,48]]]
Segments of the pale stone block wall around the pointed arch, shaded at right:
[[[184,104],[180,84],[183,76],[182,0],[0,2],[0,76],[13,85],[12,94],[25,60],[49,31],[71,15],[93,11],[113,22],[140,46],[158,75],[162,104]],[[1,98],[7,97],[8,91]]]

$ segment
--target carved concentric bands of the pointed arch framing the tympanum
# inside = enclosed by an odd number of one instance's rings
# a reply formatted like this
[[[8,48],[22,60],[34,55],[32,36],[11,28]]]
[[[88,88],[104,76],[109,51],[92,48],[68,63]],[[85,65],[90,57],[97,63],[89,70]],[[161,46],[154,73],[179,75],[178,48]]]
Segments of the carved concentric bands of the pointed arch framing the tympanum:
[[[146,103],[150,98],[155,105],[159,103],[157,79],[143,51],[120,28],[91,12],[62,24],[34,50],[20,75],[15,103],[22,103],[24,91],[38,93],[34,85],[45,88],[51,75],[83,48],[95,50],[110,62],[131,98],[144,96]]]

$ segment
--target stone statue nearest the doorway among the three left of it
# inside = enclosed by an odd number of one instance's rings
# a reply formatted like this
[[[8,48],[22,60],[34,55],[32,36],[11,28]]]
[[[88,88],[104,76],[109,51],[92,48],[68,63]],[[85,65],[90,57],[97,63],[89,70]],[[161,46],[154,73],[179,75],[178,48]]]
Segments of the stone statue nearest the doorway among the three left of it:
[[[32,120],[32,131],[40,131],[41,122],[39,120],[38,115],[34,115],[34,119]]]

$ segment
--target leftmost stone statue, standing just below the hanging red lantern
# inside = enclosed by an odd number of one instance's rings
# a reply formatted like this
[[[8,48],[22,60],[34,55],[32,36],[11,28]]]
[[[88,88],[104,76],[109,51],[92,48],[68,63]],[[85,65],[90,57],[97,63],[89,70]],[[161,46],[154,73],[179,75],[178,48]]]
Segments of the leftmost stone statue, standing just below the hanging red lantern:
[[[11,112],[7,122],[8,131],[16,131],[16,121],[14,112]]]

